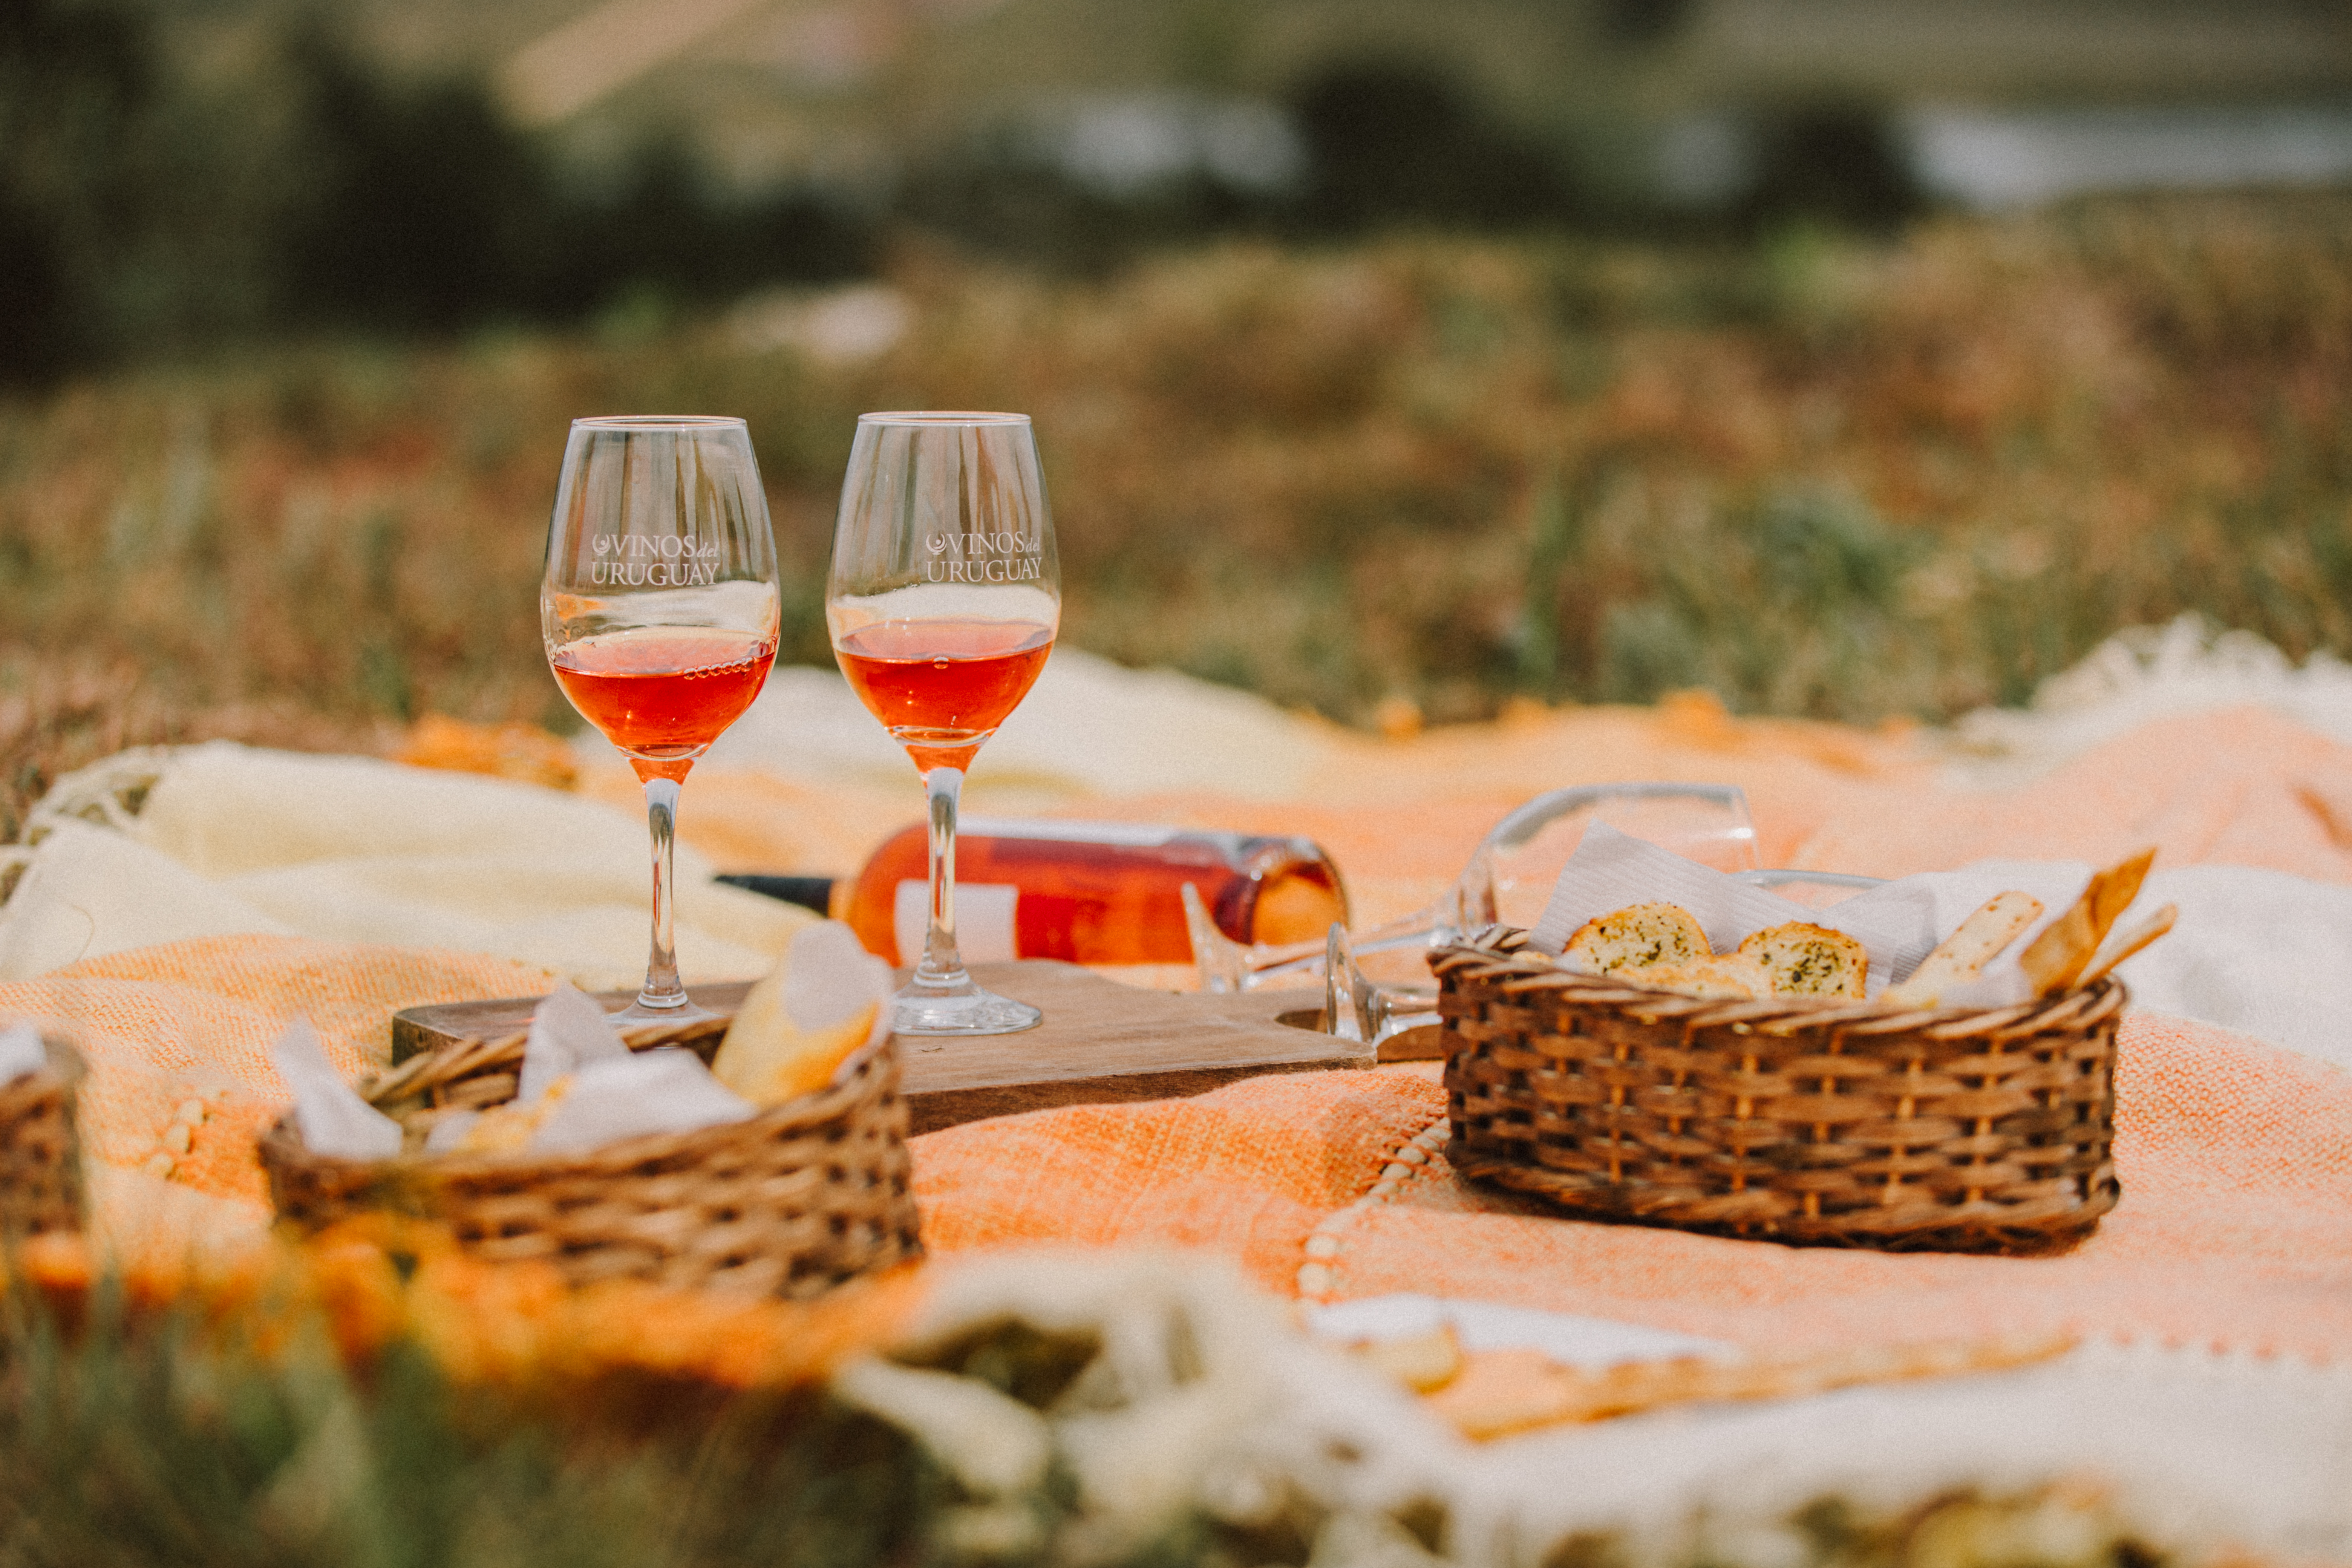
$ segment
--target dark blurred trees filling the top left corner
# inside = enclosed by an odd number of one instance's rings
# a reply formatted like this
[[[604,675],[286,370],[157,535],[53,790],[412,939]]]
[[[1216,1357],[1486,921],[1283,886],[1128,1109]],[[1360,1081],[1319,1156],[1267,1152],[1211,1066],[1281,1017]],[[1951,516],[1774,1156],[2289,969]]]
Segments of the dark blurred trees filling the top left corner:
[[[485,85],[402,78],[294,12],[167,52],[129,5],[0,12],[0,374],[186,357],[287,331],[564,322],[630,292],[727,299],[873,266],[800,193],[722,200],[666,139],[590,188]]]

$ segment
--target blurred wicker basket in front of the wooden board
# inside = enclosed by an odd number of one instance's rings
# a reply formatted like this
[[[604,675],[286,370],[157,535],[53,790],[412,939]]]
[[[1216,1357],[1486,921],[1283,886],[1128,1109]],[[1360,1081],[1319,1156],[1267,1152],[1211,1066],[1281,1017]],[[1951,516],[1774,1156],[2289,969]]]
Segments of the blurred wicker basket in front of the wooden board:
[[[527,1034],[459,1041],[365,1086],[405,1124],[515,1095]],[[720,1037],[694,1025],[623,1032],[633,1051]],[[447,1225],[487,1260],[543,1260],[574,1284],[649,1279],[807,1298],[922,1255],[908,1190],[898,1048],[844,1081],[691,1133],[567,1154],[313,1154],[292,1114],[261,1138],[278,1215],[313,1229],[365,1211]]]

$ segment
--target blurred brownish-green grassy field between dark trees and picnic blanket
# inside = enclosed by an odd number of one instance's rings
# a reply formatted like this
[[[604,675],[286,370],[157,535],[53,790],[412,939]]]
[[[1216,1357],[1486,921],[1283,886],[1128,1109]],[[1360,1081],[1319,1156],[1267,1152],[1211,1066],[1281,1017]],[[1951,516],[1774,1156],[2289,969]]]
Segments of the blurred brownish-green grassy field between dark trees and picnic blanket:
[[[0,404],[0,792],[153,738],[572,726],[536,576],[604,411],[750,421],[809,663],[877,407],[1035,414],[1073,644],[1355,724],[1684,686],[1940,719],[2190,609],[2352,651],[2352,197],[889,282],[913,324],[861,362],[647,301]]]

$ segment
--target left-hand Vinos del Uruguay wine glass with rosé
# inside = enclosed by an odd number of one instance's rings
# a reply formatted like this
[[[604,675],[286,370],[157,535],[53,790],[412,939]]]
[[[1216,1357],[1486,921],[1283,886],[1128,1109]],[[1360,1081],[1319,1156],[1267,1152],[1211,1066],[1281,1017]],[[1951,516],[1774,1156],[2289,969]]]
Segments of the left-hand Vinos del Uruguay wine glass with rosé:
[[[776,663],[776,538],[741,418],[576,418],[539,630],[555,682],[644,783],[654,940],[621,1018],[706,1018],[677,980],[677,788]]]

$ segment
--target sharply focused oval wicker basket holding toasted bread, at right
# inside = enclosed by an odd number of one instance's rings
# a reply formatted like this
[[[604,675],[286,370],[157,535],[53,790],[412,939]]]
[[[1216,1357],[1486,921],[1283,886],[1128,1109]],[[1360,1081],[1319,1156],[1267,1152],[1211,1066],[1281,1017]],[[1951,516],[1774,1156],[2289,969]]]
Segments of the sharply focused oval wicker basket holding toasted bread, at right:
[[[2114,1208],[2119,980],[1994,1011],[1705,1001],[1501,931],[1430,957],[1446,1159],[1585,1220],[2037,1253]]]

